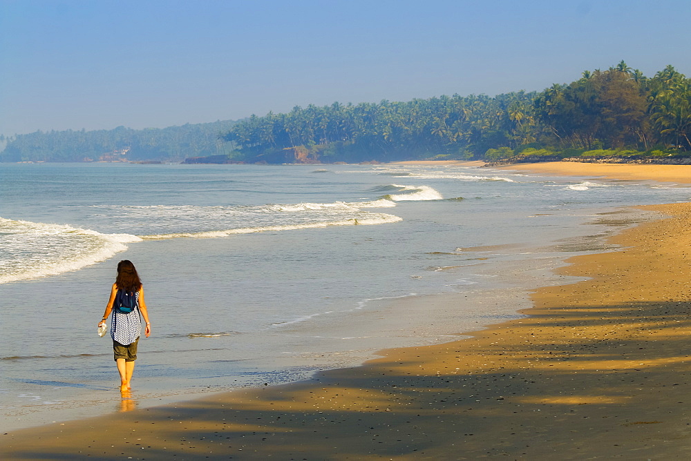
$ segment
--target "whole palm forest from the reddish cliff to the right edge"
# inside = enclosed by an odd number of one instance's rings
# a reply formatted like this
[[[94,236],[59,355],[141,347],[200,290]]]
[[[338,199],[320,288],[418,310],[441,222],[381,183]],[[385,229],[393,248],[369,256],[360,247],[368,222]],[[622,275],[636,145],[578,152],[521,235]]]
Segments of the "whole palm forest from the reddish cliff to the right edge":
[[[217,147],[207,160],[675,159],[691,156],[690,131],[691,79],[672,66],[645,77],[621,61],[542,92],[335,102],[253,115],[221,135],[229,148]]]

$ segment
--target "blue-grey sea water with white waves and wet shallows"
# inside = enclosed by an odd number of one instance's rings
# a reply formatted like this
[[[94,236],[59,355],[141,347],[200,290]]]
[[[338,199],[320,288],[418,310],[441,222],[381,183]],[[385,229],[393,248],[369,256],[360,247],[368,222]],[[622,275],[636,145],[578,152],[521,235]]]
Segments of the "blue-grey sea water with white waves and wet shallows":
[[[0,164],[0,429],[352,366],[517,317],[673,184],[467,166]],[[133,395],[96,334],[120,259]]]

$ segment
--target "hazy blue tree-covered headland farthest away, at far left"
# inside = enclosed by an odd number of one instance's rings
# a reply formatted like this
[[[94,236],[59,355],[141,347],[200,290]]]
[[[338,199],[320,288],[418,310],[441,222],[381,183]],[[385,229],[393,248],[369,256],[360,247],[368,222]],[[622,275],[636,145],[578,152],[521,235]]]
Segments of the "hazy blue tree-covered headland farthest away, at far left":
[[[133,130],[37,131],[6,139],[0,161],[182,161],[187,157],[226,155],[231,145],[220,135],[234,121]]]

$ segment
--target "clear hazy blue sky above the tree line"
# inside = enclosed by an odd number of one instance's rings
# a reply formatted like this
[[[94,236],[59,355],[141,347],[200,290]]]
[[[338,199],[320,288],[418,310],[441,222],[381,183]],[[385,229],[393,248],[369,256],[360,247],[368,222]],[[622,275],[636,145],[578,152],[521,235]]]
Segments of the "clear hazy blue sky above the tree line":
[[[0,0],[0,134],[691,75],[689,0]]]

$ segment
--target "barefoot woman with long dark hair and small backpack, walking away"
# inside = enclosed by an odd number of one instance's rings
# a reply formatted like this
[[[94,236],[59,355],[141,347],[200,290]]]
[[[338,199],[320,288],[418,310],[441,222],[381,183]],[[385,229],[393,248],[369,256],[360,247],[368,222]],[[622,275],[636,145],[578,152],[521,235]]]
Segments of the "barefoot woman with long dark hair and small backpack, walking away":
[[[129,313],[122,312],[118,307],[113,308],[115,297],[121,290],[126,293],[133,293],[135,296],[135,308]],[[151,335],[151,324],[149,323],[149,312],[146,311],[146,302],[144,302],[142,281],[134,264],[127,259],[117,263],[117,277],[113,288],[111,288],[111,297],[108,299],[106,311],[98,326],[106,323],[111,311],[113,311],[111,318],[113,356],[115,364],[117,364],[117,372],[120,373],[120,392],[126,392],[131,389],[130,381],[134,372],[134,361],[137,360],[137,345],[142,334],[142,317],[146,322],[144,330],[146,337]]]

